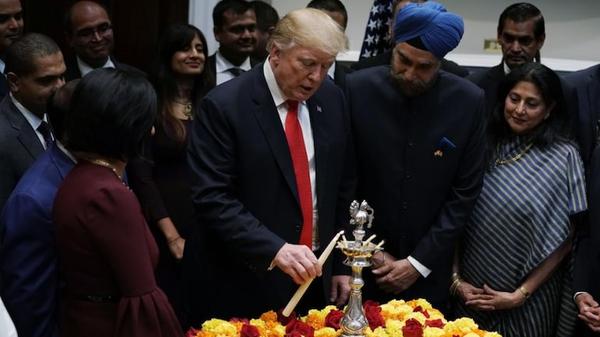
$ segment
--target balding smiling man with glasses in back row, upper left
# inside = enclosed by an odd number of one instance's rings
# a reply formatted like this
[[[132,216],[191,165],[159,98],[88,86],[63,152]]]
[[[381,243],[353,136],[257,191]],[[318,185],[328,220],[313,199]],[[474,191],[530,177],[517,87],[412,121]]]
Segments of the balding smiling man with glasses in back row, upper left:
[[[71,81],[96,68],[117,68],[142,73],[141,70],[117,62],[112,23],[106,10],[94,1],[75,2],[65,15],[66,39],[75,57],[67,60],[65,79]]]

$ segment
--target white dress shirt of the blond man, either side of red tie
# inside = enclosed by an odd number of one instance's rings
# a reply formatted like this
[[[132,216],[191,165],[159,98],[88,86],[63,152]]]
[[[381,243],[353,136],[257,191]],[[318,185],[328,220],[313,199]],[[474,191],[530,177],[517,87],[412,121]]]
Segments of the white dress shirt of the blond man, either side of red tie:
[[[275,106],[277,107],[281,125],[285,130],[285,118],[287,117],[288,113],[288,106],[286,103],[287,98],[285,98],[283,92],[281,92],[281,89],[277,84],[277,80],[275,80],[275,74],[273,74],[269,59],[267,59],[263,65],[263,72],[267,81],[267,86],[269,87],[269,91],[271,93],[271,97],[273,97],[273,102],[275,102]],[[310,189],[312,192],[313,202],[313,250],[317,250],[319,249],[320,243],[318,237],[319,232],[317,230],[319,212],[317,210],[317,188],[315,184],[317,173],[315,169],[315,145],[312,135],[312,128],[310,125],[310,114],[305,101],[298,102],[298,120],[300,122],[300,127],[302,128],[302,137],[304,138],[304,146],[306,148],[306,155],[308,157],[308,171],[310,175]]]

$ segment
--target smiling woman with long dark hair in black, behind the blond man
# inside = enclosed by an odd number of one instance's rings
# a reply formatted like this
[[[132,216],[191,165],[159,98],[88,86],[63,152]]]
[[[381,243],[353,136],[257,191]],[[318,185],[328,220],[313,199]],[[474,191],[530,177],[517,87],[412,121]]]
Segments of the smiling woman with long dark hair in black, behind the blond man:
[[[187,24],[167,27],[160,41],[154,79],[159,99],[156,133],[144,157],[133,160],[127,168],[159,246],[158,284],[182,322],[178,261],[194,221],[186,148],[196,102],[214,86],[205,66],[207,59],[206,40],[200,30]]]

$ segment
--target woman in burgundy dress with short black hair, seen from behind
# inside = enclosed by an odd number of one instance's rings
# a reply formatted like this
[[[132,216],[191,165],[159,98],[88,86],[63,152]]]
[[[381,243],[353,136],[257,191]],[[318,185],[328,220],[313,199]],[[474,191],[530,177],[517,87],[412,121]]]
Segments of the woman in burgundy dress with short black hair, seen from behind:
[[[78,164],[54,203],[61,336],[183,336],[158,288],[158,249],[140,205],[123,183],[156,114],[143,77],[101,69],[78,84],[66,119]]]

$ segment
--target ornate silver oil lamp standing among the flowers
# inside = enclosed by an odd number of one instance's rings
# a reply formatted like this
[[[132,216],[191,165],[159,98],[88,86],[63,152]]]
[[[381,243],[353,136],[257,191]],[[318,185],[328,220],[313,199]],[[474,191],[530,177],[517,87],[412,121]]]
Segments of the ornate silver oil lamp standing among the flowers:
[[[383,246],[383,241],[377,245],[371,242],[375,235],[363,241],[364,226],[371,227],[373,215],[373,208],[366,201],[360,204],[356,200],[353,201],[350,204],[350,225],[356,227],[352,231],[354,241],[348,241],[342,237],[342,240],[337,243],[337,248],[346,255],[344,264],[352,268],[350,300],[341,322],[343,337],[365,336],[365,329],[369,325],[362,307],[361,288],[365,284],[362,279],[362,269],[372,265],[371,257],[375,252],[382,250]]]

